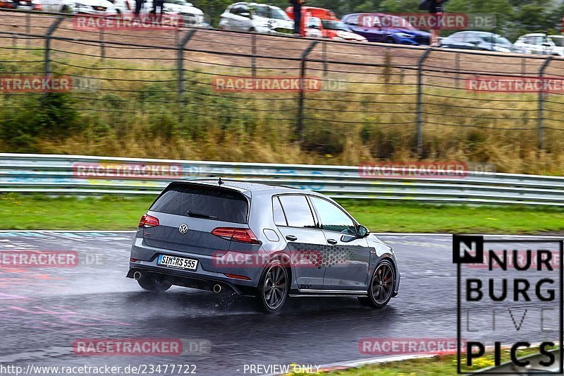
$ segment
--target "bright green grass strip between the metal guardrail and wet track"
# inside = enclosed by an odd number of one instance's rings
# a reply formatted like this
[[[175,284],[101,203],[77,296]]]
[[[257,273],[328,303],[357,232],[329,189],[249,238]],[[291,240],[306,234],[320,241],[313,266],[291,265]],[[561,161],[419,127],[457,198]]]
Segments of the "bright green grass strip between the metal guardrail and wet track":
[[[0,229],[132,230],[154,200],[48,198],[0,195]],[[341,204],[374,232],[532,234],[564,230],[564,209],[469,207],[343,200]]]

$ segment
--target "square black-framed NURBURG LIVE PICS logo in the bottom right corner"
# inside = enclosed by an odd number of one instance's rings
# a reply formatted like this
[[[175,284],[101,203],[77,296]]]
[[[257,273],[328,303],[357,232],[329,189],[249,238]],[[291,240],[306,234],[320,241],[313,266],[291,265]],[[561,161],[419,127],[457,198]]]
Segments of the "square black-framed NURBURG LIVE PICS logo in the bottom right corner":
[[[453,235],[458,373],[478,372],[477,360],[486,356],[486,347],[494,352],[495,366],[513,363],[531,368],[535,375],[564,372],[563,249],[563,240],[556,238]],[[472,267],[484,264],[487,267]],[[519,352],[536,348],[533,343],[540,346],[529,361]],[[557,345],[560,352],[552,350]],[[510,363],[502,360],[502,346],[510,350]],[[462,353],[466,359],[461,363]],[[495,369],[488,373],[506,374]]]

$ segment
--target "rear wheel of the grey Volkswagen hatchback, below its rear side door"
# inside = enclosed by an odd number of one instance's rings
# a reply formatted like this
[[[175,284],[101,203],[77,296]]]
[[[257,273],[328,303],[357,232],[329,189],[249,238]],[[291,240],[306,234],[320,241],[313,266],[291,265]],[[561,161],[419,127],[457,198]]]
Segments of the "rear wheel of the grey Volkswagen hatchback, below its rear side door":
[[[260,310],[265,313],[278,312],[288,297],[289,288],[288,270],[278,260],[270,262],[257,287]]]

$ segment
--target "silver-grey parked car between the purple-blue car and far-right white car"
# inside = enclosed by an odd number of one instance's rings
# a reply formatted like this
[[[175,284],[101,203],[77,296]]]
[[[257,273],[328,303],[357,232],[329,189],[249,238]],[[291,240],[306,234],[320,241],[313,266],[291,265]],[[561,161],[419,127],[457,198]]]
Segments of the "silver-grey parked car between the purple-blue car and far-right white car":
[[[515,46],[507,38],[485,31],[455,32],[441,40],[441,47],[496,52],[524,52],[521,47]]]

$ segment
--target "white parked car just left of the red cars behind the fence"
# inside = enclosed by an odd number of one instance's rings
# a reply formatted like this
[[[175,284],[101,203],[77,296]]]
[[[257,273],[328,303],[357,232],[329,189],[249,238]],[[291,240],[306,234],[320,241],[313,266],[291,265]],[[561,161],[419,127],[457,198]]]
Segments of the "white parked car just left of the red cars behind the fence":
[[[219,28],[265,34],[294,33],[292,20],[278,6],[243,2],[228,6],[219,16]]]

